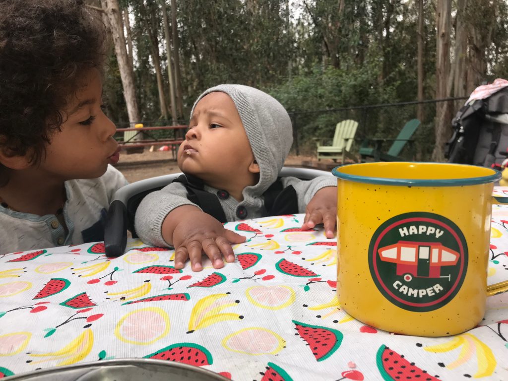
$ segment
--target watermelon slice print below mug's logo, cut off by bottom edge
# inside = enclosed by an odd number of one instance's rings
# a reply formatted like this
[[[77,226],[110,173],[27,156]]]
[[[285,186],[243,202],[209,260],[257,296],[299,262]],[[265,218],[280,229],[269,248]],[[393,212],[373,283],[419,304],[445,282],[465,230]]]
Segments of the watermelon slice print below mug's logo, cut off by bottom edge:
[[[407,361],[404,355],[399,355],[386,345],[381,345],[377,350],[376,365],[385,381],[398,379],[439,381],[439,378],[431,376],[426,370]]]

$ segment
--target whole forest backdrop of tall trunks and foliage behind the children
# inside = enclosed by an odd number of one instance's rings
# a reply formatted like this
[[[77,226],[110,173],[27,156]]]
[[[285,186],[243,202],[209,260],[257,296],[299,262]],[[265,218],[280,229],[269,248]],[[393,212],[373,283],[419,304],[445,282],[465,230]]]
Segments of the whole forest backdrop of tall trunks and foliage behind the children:
[[[508,78],[506,0],[86,3],[113,33],[104,101],[119,128],[185,124],[203,90],[239,83],[290,112],[297,151],[343,119],[360,142],[416,117],[417,160],[443,161],[469,93]]]

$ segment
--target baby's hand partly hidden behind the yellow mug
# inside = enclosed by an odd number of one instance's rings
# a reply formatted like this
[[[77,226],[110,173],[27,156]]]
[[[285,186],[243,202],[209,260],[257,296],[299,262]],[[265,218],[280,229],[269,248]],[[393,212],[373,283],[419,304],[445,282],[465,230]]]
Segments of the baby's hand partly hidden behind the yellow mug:
[[[317,224],[324,224],[326,238],[333,238],[336,223],[337,187],[327,186],[318,190],[307,204],[302,229],[312,229]]]

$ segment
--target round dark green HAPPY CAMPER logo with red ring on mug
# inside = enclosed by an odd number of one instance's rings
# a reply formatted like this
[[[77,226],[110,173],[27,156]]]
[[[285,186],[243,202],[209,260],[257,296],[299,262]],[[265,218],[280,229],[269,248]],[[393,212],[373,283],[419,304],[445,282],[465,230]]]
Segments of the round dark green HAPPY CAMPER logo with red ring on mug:
[[[377,228],[369,245],[369,268],[379,291],[393,304],[415,312],[447,304],[467,270],[467,243],[448,218],[411,212]]]

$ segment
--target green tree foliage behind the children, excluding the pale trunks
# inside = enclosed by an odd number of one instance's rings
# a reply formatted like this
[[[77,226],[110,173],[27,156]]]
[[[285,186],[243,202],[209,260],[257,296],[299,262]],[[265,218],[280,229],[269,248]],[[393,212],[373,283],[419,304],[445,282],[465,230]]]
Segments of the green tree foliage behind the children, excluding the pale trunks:
[[[170,0],[119,0],[131,16],[137,100],[143,120],[150,125],[168,123],[161,116],[153,44],[170,109],[165,49],[167,43],[174,46],[174,41],[165,41],[162,1],[171,22]],[[424,99],[433,99],[435,2],[425,0],[423,5]],[[417,99],[418,2],[185,0],[176,1],[176,6],[185,118],[199,94],[219,83],[270,92],[290,111],[301,146],[312,147],[312,137],[331,136],[343,119],[359,122],[357,137],[361,139],[395,137],[408,119],[416,117],[415,105],[360,107]],[[454,2],[454,17],[456,6]],[[508,4],[470,0],[463,20],[469,44],[466,68],[474,73],[474,83],[467,86],[507,78]],[[454,33],[453,29],[452,44]],[[111,54],[104,91],[108,115],[120,125],[128,118]],[[485,72],[472,67],[473,59],[474,65],[484,60]],[[434,118],[435,105],[426,104],[416,134],[422,159],[428,159],[433,148]]]

